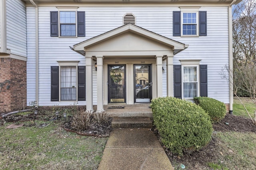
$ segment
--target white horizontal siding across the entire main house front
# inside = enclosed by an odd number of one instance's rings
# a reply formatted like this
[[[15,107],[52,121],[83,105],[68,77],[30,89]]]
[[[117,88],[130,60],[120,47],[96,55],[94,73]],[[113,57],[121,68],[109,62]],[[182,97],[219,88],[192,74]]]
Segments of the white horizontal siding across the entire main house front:
[[[34,23],[32,7],[27,7],[27,22],[30,27]],[[70,102],[50,102],[50,66],[58,66],[57,61],[80,61],[78,65],[86,65],[82,55],[70,50],[69,46],[98,36],[102,33],[123,25],[123,17],[132,13],[136,17],[136,25],[149,31],[166,36],[175,41],[188,44],[188,49],[173,57],[173,64],[180,64],[179,60],[201,60],[200,64],[207,64],[208,68],[208,97],[229,103],[228,83],[221,79],[219,72],[228,64],[228,7],[201,7],[207,11],[207,36],[202,37],[173,37],[172,12],[179,11],[178,7],[83,7],[78,11],[85,11],[86,37],[57,38],[50,37],[50,11],[58,11],[55,7],[39,7],[39,105],[59,106],[70,105]],[[28,32],[29,33],[29,32]],[[28,86],[34,87],[34,35],[28,35]],[[94,63],[93,63],[94,64]],[[166,61],[163,61],[166,64]],[[166,65],[163,66],[163,96],[167,94]],[[93,104],[97,104],[97,78],[93,67]],[[104,89],[106,90],[106,89]],[[28,96],[34,95],[33,90]],[[32,98],[30,98],[32,100]],[[85,101],[78,101],[78,105],[85,105]]]

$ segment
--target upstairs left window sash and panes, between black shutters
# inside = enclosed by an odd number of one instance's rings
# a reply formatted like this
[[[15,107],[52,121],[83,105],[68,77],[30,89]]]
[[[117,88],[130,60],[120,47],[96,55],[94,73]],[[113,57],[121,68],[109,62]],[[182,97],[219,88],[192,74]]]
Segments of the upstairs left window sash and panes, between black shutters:
[[[60,36],[76,36],[75,11],[60,11]]]

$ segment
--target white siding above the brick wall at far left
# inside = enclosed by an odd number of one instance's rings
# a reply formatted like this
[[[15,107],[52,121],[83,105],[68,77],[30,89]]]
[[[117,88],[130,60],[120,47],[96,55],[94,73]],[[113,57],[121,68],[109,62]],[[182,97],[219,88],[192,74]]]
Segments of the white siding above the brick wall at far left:
[[[6,41],[12,54],[27,57],[26,7],[21,0],[6,0]]]

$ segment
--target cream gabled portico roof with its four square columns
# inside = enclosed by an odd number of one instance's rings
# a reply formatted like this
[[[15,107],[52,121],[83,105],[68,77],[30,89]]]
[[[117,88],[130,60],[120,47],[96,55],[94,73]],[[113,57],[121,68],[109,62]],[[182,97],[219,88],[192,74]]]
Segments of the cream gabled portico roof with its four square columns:
[[[97,110],[103,110],[103,59],[156,59],[156,96],[162,97],[162,60],[168,59],[168,96],[173,96],[172,58],[188,45],[153,33],[131,23],[78,43],[72,50],[86,57],[86,109],[93,111],[92,59],[97,58]],[[106,69],[106,68],[105,68]]]

